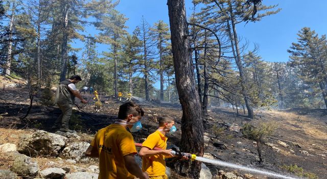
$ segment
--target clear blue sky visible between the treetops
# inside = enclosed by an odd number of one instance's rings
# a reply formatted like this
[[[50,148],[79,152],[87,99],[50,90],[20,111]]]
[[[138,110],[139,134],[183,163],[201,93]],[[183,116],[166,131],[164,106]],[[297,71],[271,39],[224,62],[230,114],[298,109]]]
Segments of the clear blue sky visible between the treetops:
[[[266,61],[288,61],[287,49],[296,41],[296,33],[303,27],[310,27],[319,35],[327,33],[327,1],[316,0],[263,0],[264,4],[278,4],[282,11],[263,18],[256,23],[240,24],[237,31],[240,36],[250,42],[259,44],[258,54]],[[191,14],[192,1],[185,0],[186,12]],[[150,25],[158,20],[169,24],[166,0],[121,0],[116,8],[129,20],[126,25],[132,32],[141,23],[142,15]],[[96,33],[87,28],[87,33]],[[107,46],[99,45],[99,52]],[[250,49],[249,49],[250,50]]]

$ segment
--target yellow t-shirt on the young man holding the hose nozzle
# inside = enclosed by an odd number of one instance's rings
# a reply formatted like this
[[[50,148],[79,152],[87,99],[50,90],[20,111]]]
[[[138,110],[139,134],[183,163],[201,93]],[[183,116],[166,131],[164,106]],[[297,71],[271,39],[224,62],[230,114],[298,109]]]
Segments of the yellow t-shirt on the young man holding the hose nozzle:
[[[153,149],[158,147],[166,150],[167,137],[156,130],[143,142],[142,147]],[[165,155],[157,154],[142,158],[142,170],[148,172],[149,176],[161,176],[166,173]]]

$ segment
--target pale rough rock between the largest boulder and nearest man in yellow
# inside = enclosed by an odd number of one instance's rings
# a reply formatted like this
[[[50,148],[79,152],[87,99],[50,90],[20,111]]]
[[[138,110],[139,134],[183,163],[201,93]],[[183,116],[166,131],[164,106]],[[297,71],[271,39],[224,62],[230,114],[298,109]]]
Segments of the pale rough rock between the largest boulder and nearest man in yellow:
[[[84,153],[89,145],[90,144],[87,142],[74,142],[68,144],[68,146],[62,150],[62,156],[68,159],[80,161],[81,159],[86,158]]]

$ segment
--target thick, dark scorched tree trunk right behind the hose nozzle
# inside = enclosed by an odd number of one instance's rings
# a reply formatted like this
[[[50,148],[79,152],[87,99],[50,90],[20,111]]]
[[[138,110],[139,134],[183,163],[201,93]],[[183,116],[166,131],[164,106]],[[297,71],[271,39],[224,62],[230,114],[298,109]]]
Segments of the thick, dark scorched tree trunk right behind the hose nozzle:
[[[176,87],[183,115],[181,119],[181,151],[203,155],[203,124],[199,94],[196,89],[192,51],[188,39],[189,29],[186,21],[184,0],[168,0],[172,52],[174,60]],[[188,173],[190,178],[199,178],[201,163],[179,161],[176,164],[180,173]],[[182,171],[186,168],[188,171]]]

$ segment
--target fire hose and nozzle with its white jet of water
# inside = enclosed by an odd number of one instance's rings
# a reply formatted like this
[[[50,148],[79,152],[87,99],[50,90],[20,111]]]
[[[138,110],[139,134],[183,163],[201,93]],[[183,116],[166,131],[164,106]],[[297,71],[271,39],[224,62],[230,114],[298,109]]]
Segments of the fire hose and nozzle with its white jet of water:
[[[135,146],[137,147],[142,147],[142,144],[139,143],[135,143]],[[153,148],[153,150],[162,150],[161,148]],[[258,173],[258,174],[263,174],[265,176],[271,176],[271,177],[275,177],[275,178],[284,178],[284,179],[302,179],[300,177],[295,177],[295,176],[287,176],[287,175],[283,175],[283,174],[278,174],[275,172],[271,172],[271,171],[267,171],[264,169],[259,169],[259,168],[253,168],[253,167],[246,167],[246,166],[242,166],[242,165],[238,165],[238,164],[233,164],[233,163],[229,163],[229,162],[223,162],[220,160],[214,160],[214,159],[208,159],[208,158],[204,158],[201,156],[196,156],[196,154],[191,154],[191,153],[184,153],[184,152],[180,152],[178,150],[172,150],[171,153],[174,156],[178,156],[178,157],[183,157],[186,156],[186,158],[188,158],[191,161],[199,161],[199,162],[204,162],[204,163],[208,163],[208,164],[213,164],[216,166],[223,166],[223,167],[229,167],[229,168],[235,168],[235,169],[239,169],[239,170],[243,170],[243,171],[248,171],[251,173]]]

